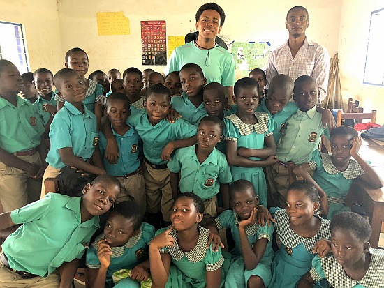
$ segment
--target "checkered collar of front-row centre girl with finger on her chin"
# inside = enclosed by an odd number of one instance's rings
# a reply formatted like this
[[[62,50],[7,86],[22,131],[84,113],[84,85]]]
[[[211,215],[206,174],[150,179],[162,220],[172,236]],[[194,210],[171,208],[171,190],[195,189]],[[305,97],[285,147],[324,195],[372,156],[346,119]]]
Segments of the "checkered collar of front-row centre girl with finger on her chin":
[[[175,243],[173,244],[173,246],[167,246],[167,250],[173,259],[175,259],[176,261],[179,261],[182,259],[184,255],[186,256],[188,261],[191,263],[197,263],[202,259],[204,259],[205,252],[207,252],[209,230],[201,226],[198,226],[198,230],[199,230],[199,238],[195,248],[193,248],[189,252],[183,252],[182,250],[180,250],[179,244],[177,243],[177,232],[175,229],[172,229],[172,231],[170,232],[170,236],[175,238]]]

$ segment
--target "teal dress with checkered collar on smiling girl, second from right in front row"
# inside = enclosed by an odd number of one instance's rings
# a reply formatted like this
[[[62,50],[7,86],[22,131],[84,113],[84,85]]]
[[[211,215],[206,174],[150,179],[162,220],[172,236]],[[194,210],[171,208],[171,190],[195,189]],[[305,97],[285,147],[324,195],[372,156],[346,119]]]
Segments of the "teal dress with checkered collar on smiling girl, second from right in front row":
[[[318,217],[315,215],[314,217]],[[272,281],[269,288],[295,288],[302,275],[312,266],[313,246],[321,239],[330,240],[330,221],[322,219],[318,233],[311,238],[297,235],[290,228],[289,218],[285,209],[279,209],[274,215],[277,235],[281,247],[275,253],[272,262]],[[316,282],[313,287],[327,287],[325,281]]]

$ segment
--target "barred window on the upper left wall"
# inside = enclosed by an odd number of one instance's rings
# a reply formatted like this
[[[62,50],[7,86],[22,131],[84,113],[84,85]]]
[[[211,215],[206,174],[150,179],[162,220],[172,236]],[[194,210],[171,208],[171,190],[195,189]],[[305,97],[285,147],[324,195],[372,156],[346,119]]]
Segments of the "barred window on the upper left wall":
[[[29,72],[27,44],[22,24],[0,21],[0,59],[14,63],[20,74]]]

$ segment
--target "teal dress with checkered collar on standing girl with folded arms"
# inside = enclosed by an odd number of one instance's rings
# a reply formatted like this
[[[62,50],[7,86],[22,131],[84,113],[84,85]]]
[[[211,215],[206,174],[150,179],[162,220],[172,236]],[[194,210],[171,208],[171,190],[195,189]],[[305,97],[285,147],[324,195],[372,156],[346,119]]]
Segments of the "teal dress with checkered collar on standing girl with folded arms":
[[[227,116],[224,119],[226,130],[223,135],[226,141],[237,142],[237,148],[246,147],[249,149],[263,149],[264,138],[272,135],[273,122],[267,113],[255,112],[258,123],[251,125],[243,123],[236,114]],[[261,160],[257,157],[251,160]],[[258,193],[259,203],[267,206],[267,182],[262,167],[237,167],[230,166],[233,181],[245,179],[250,181]]]

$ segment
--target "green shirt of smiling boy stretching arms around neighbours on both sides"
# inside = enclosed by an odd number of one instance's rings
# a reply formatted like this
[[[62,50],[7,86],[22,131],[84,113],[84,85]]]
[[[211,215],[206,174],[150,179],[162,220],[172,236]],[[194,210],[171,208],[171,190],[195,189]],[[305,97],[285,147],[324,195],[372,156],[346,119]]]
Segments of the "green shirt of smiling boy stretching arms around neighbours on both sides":
[[[182,140],[196,135],[196,126],[177,119],[175,123],[169,123],[162,119],[155,126],[149,122],[148,114],[145,110],[139,112],[132,118],[128,118],[127,124],[131,124],[143,142],[144,156],[156,165],[166,164],[167,161],[161,160],[161,151],[166,144],[175,140]]]

